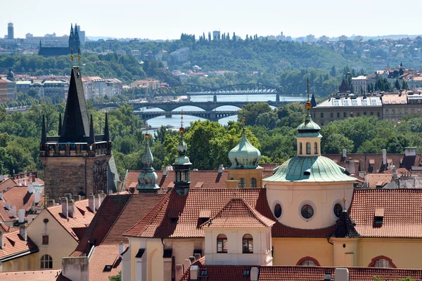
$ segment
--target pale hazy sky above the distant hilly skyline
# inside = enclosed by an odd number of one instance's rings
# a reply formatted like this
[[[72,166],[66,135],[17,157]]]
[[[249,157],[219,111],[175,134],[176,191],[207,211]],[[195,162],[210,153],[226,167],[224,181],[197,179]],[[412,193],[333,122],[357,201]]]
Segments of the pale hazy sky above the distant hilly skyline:
[[[0,37],[9,20],[20,38],[69,34],[70,22],[87,37],[177,39],[212,30],[241,37],[422,34],[421,11],[422,0],[20,0],[1,5]]]

